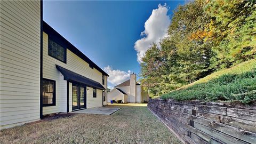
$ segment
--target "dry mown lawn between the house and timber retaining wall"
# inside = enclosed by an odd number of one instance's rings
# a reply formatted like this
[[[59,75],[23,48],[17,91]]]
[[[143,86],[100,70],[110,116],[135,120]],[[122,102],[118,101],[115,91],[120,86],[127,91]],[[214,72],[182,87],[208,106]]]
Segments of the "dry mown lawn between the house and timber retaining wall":
[[[145,106],[112,115],[74,114],[4,129],[0,143],[180,143]]]

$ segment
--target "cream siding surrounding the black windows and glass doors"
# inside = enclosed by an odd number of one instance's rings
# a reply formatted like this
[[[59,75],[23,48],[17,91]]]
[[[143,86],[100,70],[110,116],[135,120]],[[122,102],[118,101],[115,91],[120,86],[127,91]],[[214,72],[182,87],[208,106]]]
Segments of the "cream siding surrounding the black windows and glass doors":
[[[67,48],[67,47],[65,47]],[[67,107],[67,82],[63,81],[63,78],[60,77],[61,73],[57,70],[55,65],[59,65],[63,68],[69,69],[74,73],[83,75],[87,78],[93,79],[99,83],[102,83],[102,74],[95,68],[90,68],[89,63],[85,62],[83,59],[79,58],[75,53],[67,49],[67,63],[61,62],[48,55],[48,35],[43,33],[43,78],[48,78],[56,81],[56,106],[43,107],[44,114],[65,112]],[[105,77],[105,85],[107,77]],[[70,85],[69,85],[70,86]],[[69,88],[69,99],[72,98],[72,90]],[[90,107],[99,107],[102,106],[102,90],[97,90],[97,99],[90,98],[87,95],[87,108]],[[91,94],[92,97],[92,94]],[[70,108],[71,107],[71,108]],[[72,110],[72,101],[69,100],[69,110]]]

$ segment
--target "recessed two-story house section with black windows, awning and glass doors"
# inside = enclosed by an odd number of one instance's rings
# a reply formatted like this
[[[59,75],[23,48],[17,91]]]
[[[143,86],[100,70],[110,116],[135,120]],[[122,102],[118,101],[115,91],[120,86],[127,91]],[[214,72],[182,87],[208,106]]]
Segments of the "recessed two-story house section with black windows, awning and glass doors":
[[[43,22],[43,115],[106,105],[107,77]]]

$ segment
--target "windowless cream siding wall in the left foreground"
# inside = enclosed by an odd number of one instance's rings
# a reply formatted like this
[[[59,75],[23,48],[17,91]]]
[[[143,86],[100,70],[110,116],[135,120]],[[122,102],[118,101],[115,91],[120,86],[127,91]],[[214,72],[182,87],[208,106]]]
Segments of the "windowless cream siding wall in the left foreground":
[[[2,129],[39,119],[40,1],[1,1],[0,12]]]

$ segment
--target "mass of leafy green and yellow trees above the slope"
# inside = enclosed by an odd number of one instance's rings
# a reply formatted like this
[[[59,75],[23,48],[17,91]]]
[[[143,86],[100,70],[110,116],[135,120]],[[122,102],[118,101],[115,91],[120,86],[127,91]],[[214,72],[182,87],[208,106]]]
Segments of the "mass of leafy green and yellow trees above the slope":
[[[214,71],[256,58],[255,1],[203,1],[174,11],[169,36],[152,44],[141,83],[159,96]]]

